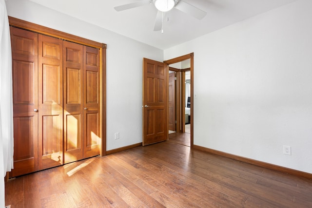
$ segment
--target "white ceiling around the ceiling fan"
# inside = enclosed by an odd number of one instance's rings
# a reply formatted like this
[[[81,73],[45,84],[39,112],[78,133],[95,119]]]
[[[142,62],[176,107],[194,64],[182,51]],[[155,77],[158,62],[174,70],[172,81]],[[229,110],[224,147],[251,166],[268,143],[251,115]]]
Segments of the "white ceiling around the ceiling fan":
[[[154,30],[154,4],[117,12],[114,6],[137,0],[31,0],[61,13],[167,49],[296,0],[184,0],[207,12],[198,20],[176,8],[168,12],[164,33]]]

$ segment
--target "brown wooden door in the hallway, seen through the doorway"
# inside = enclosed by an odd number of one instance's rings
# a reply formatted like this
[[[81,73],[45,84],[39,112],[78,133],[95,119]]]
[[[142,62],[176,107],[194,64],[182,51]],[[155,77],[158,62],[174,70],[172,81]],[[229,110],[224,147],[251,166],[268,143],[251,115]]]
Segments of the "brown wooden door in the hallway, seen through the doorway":
[[[176,132],[176,72],[169,73],[168,94],[168,128],[170,131]]]

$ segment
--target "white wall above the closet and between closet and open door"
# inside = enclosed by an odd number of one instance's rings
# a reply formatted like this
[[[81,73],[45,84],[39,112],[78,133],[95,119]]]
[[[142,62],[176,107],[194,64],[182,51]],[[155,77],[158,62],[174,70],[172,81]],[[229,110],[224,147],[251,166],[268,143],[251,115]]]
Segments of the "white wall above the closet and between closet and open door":
[[[7,0],[8,15],[107,44],[107,147],[142,142],[142,59],[163,51],[28,0]],[[115,140],[114,133],[119,132]]]

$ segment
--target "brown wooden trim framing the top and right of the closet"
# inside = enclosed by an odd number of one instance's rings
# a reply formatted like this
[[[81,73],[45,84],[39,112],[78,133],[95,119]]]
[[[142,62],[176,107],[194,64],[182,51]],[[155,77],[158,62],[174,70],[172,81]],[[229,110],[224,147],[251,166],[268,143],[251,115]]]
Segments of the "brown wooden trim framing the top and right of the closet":
[[[10,26],[14,26],[17,28],[29,30],[32,32],[36,32],[39,34],[60,38],[64,40],[68,40],[71,42],[75,42],[78,44],[98,48],[100,50],[100,110],[101,110],[101,129],[100,129],[100,137],[102,138],[101,148],[100,148],[100,155],[104,156],[106,155],[106,48],[107,45],[105,43],[99,43],[93,40],[89,40],[86,38],[81,38],[78,36],[74,36],[68,33],[64,33],[58,30],[54,30],[48,27],[44,27],[32,22],[28,22],[22,19],[17,19],[13,17],[9,18],[9,24]]]

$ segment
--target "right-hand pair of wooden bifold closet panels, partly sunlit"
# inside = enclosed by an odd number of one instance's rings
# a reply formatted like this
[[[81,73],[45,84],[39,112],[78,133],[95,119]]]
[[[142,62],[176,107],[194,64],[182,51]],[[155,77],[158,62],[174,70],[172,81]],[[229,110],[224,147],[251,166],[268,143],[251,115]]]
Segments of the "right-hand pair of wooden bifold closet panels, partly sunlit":
[[[64,162],[99,154],[99,50],[64,42]]]

